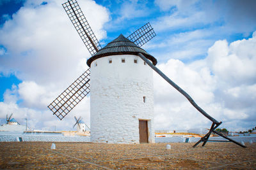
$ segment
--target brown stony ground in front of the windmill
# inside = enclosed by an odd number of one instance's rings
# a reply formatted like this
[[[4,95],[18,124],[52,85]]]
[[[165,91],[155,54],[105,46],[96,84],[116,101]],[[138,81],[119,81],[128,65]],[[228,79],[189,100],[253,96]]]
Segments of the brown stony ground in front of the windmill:
[[[256,143],[51,144],[1,142],[0,169],[256,169]]]

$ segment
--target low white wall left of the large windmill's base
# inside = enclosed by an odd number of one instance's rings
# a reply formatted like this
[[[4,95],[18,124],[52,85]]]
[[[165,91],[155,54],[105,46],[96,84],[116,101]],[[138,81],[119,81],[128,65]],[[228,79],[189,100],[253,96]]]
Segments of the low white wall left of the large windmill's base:
[[[49,136],[49,135],[27,135],[27,134],[0,134],[0,141],[52,141],[52,142],[90,142],[88,136]]]

